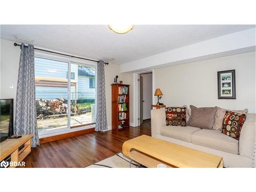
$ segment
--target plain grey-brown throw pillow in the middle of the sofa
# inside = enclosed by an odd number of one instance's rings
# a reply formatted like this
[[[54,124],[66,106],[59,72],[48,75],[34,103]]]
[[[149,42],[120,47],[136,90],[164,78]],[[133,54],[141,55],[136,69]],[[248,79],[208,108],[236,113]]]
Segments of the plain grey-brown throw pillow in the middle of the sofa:
[[[189,106],[191,109],[191,115],[187,125],[211,130],[212,126],[214,126],[217,106],[214,108],[197,108],[194,105]]]

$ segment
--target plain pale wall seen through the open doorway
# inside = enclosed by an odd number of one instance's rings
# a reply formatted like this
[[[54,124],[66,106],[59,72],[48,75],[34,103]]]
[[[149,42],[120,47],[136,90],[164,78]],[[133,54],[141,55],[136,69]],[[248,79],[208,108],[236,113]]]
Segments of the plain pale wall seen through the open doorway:
[[[143,78],[143,120],[150,119],[152,105],[152,73],[141,74]]]

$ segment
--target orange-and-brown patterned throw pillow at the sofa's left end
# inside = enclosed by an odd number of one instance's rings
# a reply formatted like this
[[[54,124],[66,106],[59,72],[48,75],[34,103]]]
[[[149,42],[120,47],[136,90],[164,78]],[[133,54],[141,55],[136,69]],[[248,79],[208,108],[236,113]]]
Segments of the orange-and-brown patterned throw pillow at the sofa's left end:
[[[187,126],[186,108],[169,107],[165,108],[167,126]]]

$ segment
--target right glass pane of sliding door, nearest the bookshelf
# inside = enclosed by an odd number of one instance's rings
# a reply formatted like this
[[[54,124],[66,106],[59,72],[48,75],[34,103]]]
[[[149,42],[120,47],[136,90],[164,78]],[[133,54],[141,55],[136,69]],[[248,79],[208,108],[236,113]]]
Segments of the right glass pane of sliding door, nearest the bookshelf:
[[[95,67],[72,63],[72,69],[77,83],[71,81],[71,127],[94,123],[95,88],[90,88],[90,79],[95,79]]]

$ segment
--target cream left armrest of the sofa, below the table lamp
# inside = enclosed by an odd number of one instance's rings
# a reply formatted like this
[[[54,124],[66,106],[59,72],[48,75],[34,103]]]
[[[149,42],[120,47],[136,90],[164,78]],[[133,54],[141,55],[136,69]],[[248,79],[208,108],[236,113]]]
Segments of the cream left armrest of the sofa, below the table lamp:
[[[151,135],[160,134],[160,127],[165,126],[165,109],[151,110]]]

